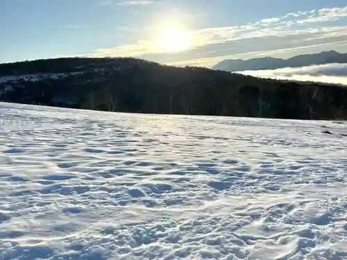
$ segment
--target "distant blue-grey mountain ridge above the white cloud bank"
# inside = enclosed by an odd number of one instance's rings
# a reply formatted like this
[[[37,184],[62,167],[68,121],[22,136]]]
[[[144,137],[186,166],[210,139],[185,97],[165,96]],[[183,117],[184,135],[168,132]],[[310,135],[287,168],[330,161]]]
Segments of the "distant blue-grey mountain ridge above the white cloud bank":
[[[303,54],[287,60],[281,58],[253,58],[250,60],[222,60],[212,69],[221,71],[254,71],[264,69],[281,69],[285,67],[303,67],[314,64],[347,63],[347,53],[323,51],[321,53]]]

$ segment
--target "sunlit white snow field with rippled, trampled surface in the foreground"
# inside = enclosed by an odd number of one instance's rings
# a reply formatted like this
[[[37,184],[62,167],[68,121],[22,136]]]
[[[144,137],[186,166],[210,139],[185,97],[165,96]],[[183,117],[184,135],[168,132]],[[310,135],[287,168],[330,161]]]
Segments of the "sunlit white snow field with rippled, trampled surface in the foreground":
[[[347,125],[4,103],[0,125],[1,260],[347,259]]]

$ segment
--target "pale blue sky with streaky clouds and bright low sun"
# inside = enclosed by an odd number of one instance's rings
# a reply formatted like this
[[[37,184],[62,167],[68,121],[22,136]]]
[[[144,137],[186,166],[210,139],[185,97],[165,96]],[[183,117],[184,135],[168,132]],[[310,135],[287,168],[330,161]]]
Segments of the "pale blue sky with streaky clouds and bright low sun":
[[[0,63],[130,56],[212,67],[347,53],[346,0],[1,0],[0,10]]]

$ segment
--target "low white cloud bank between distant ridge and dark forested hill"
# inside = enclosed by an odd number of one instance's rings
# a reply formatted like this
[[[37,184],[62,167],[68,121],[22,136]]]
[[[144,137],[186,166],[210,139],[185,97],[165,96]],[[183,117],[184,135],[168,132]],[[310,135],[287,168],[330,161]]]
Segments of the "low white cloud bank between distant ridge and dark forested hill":
[[[347,64],[323,64],[298,68],[239,71],[244,75],[278,80],[314,81],[347,85]]]

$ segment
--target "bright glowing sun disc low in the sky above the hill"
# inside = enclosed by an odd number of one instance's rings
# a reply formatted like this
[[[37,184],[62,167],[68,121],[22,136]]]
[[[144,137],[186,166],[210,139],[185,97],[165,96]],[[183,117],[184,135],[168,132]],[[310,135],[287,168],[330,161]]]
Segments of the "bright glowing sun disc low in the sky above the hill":
[[[191,38],[186,31],[167,29],[159,37],[158,45],[162,51],[174,52],[189,49]]]

